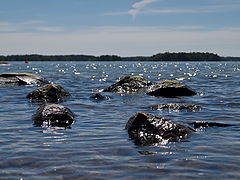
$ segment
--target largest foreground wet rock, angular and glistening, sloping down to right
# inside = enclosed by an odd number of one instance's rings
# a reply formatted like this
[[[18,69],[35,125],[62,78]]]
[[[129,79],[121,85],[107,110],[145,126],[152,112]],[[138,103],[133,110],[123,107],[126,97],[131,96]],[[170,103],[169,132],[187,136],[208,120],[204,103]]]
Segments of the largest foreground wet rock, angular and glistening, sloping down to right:
[[[194,131],[189,127],[146,112],[139,112],[130,117],[125,128],[129,137],[137,145],[180,142]]]

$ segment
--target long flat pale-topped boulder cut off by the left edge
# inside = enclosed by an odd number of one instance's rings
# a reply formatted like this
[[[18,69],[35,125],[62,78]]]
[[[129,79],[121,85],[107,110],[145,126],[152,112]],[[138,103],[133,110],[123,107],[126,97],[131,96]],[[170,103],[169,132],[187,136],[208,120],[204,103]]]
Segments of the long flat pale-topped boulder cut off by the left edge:
[[[31,73],[0,74],[0,86],[24,86],[49,83],[40,76]]]

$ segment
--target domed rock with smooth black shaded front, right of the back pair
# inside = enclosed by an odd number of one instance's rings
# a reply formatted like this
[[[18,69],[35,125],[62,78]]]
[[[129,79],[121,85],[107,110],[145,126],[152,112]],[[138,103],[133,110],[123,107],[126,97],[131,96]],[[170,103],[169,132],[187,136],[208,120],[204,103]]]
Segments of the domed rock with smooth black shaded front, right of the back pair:
[[[193,96],[196,92],[182,82],[176,80],[161,80],[148,87],[147,94],[151,96],[177,97]]]

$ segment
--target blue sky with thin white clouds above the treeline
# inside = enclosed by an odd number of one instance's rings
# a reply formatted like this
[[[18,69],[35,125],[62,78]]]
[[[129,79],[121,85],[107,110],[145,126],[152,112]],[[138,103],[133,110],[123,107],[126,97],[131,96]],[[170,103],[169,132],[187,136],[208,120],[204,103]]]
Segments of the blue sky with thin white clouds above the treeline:
[[[240,57],[240,0],[0,0],[0,55]]]

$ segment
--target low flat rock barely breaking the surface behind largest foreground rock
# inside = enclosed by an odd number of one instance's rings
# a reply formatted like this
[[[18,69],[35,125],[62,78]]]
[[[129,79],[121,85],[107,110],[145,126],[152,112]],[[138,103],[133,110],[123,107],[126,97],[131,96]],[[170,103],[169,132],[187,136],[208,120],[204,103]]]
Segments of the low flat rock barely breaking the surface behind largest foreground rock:
[[[148,107],[151,110],[173,110],[173,111],[199,111],[202,109],[201,106],[195,104],[181,104],[181,103],[169,103],[169,104],[157,104]]]

